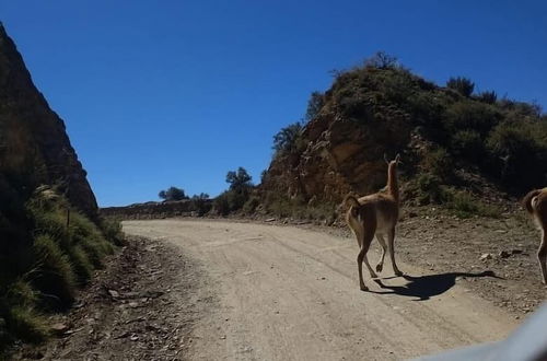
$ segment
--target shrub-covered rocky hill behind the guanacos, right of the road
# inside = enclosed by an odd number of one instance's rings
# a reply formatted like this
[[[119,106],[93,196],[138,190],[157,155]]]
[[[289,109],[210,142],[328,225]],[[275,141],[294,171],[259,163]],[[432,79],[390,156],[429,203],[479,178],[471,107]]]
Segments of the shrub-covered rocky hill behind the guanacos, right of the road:
[[[377,191],[386,182],[384,154],[396,153],[405,195],[420,202],[441,201],[449,188],[488,184],[521,195],[547,184],[540,108],[473,90],[465,78],[439,86],[384,54],[337,73],[329,90],[314,94],[302,130],[278,147],[263,198],[336,203],[348,193]]]

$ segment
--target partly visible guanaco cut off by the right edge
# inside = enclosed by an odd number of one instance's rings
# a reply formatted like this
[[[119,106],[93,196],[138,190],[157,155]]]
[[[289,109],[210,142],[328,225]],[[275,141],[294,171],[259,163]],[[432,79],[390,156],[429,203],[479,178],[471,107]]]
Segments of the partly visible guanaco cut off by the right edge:
[[[522,203],[524,208],[536,221],[539,231],[542,231],[542,243],[537,251],[537,260],[544,277],[544,283],[547,284],[547,188],[534,189],[524,196]]]

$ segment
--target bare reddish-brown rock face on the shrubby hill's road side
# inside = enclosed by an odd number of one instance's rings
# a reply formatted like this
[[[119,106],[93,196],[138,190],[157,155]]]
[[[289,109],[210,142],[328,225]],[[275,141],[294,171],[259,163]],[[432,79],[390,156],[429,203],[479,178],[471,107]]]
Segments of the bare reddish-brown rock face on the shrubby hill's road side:
[[[394,156],[408,144],[409,135],[405,119],[360,124],[336,110],[325,112],[304,127],[305,150],[274,159],[260,188],[330,202],[349,193],[377,191],[386,183],[384,153]]]

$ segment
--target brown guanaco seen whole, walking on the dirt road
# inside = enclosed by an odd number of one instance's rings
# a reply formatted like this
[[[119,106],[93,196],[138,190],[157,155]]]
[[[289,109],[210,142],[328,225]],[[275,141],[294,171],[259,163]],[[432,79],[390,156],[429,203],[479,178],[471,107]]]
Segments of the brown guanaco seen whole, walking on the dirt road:
[[[392,259],[393,270],[396,276],[403,276],[395,263],[394,240],[395,225],[399,218],[399,187],[397,184],[397,165],[400,161],[400,155],[397,154],[395,160],[387,161],[387,186],[386,191],[379,191],[373,195],[356,198],[348,195],[345,203],[349,207],[346,213],[346,222],[357,237],[359,245],[359,255],[357,256],[357,265],[359,270],[359,287],[362,291],[369,290],[363,282],[363,260],[369,269],[371,278],[377,278],[377,275],[371,268],[366,253],[371,245],[374,235],[382,246],[382,257],[376,265],[376,271],[381,272],[384,266],[384,257],[388,246],[389,257]],[[387,245],[384,240],[387,235]]]

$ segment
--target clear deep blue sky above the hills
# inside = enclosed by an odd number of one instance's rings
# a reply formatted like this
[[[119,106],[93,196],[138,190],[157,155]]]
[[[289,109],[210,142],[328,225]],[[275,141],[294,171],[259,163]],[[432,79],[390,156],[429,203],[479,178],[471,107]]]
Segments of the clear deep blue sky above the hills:
[[[426,79],[465,75],[547,108],[546,1],[0,2],[34,82],[67,124],[101,206],[171,185],[258,183],[272,136],[329,70],[385,50]]]

